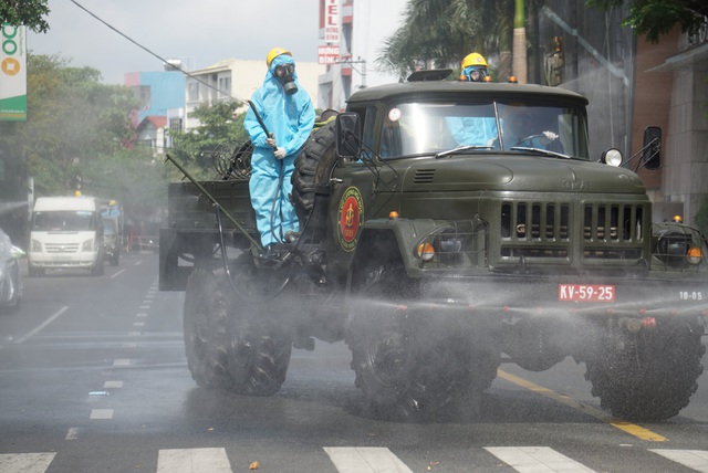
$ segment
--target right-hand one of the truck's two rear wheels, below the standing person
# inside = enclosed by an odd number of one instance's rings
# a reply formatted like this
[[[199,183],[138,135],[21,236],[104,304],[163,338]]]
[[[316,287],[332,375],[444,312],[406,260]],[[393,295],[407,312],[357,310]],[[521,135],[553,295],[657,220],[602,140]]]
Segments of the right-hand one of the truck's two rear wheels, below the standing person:
[[[243,254],[230,270],[235,286],[243,291],[243,297],[239,297],[237,290],[228,328],[227,354],[232,389],[240,395],[272,396],[285,381],[292,340],[282,328],[282,320],[268,312],[268,307],[273,307],[272,303],[246,299],[264,288],[272,288],[259,277],[251,255]]]

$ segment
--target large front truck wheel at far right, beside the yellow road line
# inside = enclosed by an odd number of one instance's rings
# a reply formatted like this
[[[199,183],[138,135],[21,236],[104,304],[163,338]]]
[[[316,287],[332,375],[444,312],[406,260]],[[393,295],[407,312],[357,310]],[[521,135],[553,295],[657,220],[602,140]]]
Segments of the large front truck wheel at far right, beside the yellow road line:
[[[612,345],[585,362],[585,379],[604,409],[622,419],[658,421],[688,404],[704,370],[700,330],[678,320],[657,322],[650,337],[639,333],[610,338]]]

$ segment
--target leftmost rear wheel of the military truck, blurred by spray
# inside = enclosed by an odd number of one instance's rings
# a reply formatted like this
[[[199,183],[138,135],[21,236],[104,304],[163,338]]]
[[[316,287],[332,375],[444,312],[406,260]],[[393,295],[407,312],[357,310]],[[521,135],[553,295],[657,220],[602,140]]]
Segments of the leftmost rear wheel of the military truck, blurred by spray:
[[[226,284],[225,284],[226,283]],[[187,366],[197,385],[229,388],[227,367],[227,317],[235,307],[226,276],[197,266],[185,293],[185,350]]]

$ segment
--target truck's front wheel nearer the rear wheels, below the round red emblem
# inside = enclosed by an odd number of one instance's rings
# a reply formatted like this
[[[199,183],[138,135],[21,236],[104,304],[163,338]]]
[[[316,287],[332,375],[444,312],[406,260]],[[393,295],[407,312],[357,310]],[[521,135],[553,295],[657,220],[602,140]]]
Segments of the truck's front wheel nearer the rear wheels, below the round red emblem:
[[[427,419],[465,391],[470,377],[454,380],[445,368],[450,353],[439,345],[421,347],[406,320],[405,302],[416,297],[400,262],[371,271],[350,320],[346,343],[352,350],[356,387],[373,414],[396,420]],[[400,303],[400,304],[398,304]],[[459,366],[460,364],[456,364]],[[449,376],[448,376],[449,375]],[[465,388],[459,389],[461,385]]]

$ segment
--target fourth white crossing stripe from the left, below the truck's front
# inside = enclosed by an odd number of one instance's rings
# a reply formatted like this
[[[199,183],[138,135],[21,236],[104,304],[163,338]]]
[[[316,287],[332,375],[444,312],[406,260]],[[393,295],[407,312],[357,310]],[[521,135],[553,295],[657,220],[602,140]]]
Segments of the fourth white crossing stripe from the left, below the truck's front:
[[[519,473],[591,473],[591,470],[549,446],[485,446]]]

